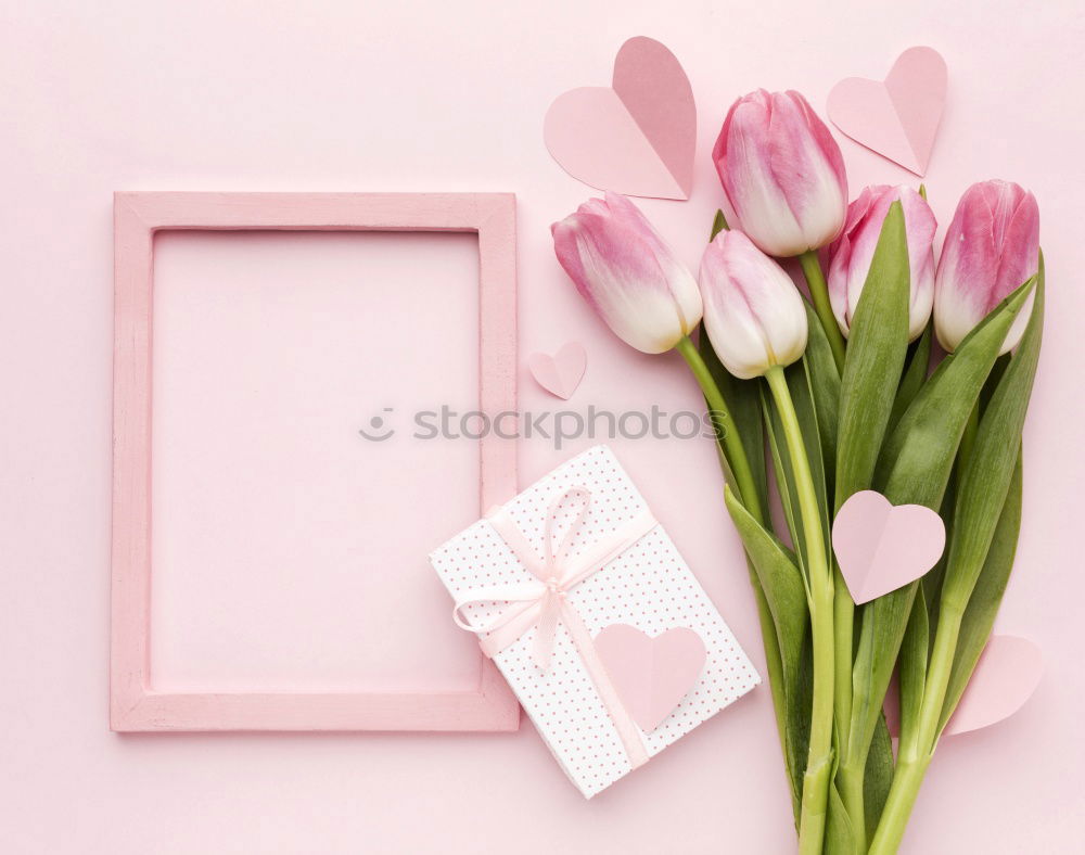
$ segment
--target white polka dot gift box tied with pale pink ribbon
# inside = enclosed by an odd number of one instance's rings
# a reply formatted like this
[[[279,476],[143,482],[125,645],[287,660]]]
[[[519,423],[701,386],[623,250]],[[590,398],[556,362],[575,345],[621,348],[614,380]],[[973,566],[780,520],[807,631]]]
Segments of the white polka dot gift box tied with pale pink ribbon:
[[[607,446],[567,460],[430,561],[457,602],[457,620],[480,634],[484,650],[492,648],[487,653],[588,799],[761,681]],[[554,564],[569,570],[572,584],[548,587],[545,565]],[[592,649],[591,639],[615,624],[653,639],[681,627],[703,642],[691,687],[649,731],[631,720],[630,709],[640,706],[624,702],[633,697],[628,682],[616,679],[622,675],[610,663],[602,667]],[[651,659],[648,639],[646,650]],[[625,698],[615,691],[623,687]]]

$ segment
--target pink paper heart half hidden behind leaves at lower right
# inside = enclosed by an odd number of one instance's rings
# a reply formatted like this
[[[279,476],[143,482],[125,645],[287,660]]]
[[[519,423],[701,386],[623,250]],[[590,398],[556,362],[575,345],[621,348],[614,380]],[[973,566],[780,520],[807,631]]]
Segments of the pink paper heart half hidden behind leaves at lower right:
[[[945,732],[967,733],[1009,718],[1036,691],[1043,673],[1044,654],[1027,638],[992,636]]]

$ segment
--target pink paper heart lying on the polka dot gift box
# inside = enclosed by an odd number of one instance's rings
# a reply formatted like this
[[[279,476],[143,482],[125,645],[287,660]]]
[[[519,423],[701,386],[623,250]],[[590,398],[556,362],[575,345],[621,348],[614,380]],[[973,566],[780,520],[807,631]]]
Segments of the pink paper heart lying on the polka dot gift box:
[[[596,652],[618,698],[646,733],[671,715],[704,668],[705,650],[692,629],[675,627],[649,637],[612,624],[596,636]]]

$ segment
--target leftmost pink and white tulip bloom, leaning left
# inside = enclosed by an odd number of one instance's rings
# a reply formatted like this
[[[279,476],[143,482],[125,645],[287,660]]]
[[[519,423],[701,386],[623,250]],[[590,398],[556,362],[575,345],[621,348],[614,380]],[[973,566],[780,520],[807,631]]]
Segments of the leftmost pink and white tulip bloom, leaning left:
[[[625,196],[588,200],[550,231],[576,290],[626,344],[661,354],[697,328],[697,281]]]

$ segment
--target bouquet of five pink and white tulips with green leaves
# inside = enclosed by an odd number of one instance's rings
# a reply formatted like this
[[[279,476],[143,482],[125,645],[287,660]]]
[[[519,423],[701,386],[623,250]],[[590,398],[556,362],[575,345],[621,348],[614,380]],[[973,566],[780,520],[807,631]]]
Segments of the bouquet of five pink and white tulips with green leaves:
[[[717,214],[699,281],[615,194],[554,224],[554,250],[615,334],[681,354],[722,425],[800,851],[892,853],[1013,563],[1044,317],[1036,201],[973,184],[935,265],[924,189],[848,204],[840,149],[796,92],[739,99],[713,159],[731,227]],[[799,257],[808,301],[773,256]],[[947,541],[920,579],[856,605],[830,532],[867,489],[936,511]]]

